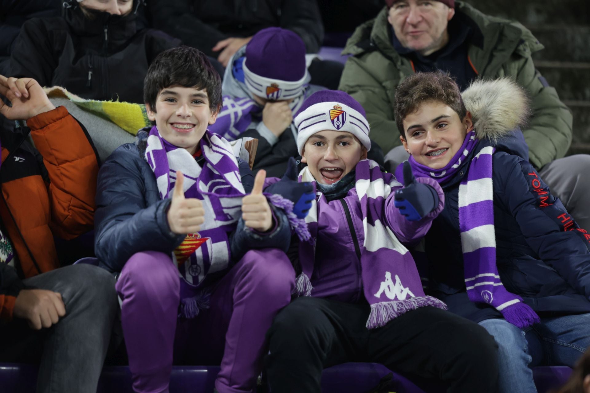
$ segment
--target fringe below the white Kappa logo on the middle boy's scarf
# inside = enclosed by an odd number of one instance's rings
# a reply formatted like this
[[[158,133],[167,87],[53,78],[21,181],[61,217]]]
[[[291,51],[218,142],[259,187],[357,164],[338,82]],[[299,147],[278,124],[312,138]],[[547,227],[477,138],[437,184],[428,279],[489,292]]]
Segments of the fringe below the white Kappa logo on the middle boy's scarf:
[[[443,310],[447,309],[447,305],[442,302],[442,300],[438,300],[432,296],[419,296],[417,298],[409,298],[405,300],[374,303],[371,305],[371,313],[369,314],[366,328],[381,328],[392,319],[397,318],[408,311],[426,306],[432,306]]]

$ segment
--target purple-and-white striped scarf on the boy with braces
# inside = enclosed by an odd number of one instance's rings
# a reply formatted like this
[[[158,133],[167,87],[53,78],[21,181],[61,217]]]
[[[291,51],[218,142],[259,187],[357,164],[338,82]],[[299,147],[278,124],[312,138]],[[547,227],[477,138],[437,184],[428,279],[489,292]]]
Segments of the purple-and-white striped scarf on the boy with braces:
[[[467,134],[463,146],[450,163],[440,170],[409,158],[414,175],[431,177],[444,183],[478,143],[475,131]],[[504,288],[496,267],[496,233],[494,232],[494,190],[492,161],[494,148],[482,148],[469,164],[459,185],[459,228],[467,295],[472,302],[488,303],[500,311],[506,321],[520,329],[539,322],[539,316],[520,296]]]

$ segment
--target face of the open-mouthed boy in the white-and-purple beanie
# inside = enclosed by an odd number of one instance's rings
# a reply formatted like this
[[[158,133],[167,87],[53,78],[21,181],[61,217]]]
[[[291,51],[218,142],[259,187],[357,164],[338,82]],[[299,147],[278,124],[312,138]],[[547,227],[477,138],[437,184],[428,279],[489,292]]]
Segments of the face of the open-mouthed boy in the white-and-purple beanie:
[[[367,158],[367,149],[351,133],[324,130],[309,137],[301,156],[314,179],[334,184]]]

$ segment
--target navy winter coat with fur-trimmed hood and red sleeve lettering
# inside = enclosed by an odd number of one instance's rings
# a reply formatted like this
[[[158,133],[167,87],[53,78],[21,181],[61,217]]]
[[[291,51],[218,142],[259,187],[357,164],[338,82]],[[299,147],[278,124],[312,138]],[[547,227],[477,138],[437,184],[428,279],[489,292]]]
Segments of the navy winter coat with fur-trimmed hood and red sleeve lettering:
[[[463,100],[476,120],[476,134],[481,140],[455,176],[441,184],[445,206],[425,237],[430,294],[446,302],[451,312],[475,322],[501,318],[491,306],[467,298],[458,206],[459,184],[467,176],[471,158],[483,147],[495,146],[494,227],[501,282],[509,292],[522,296],[540,316],[590,312],[590,235],[579,229],[529,163],[522,133],[498,126],[510,117],[512,107],[519,107],[513,94],[504,91],[501,99],[507,102],[495,108],[490,97],[498,92],[481,85],[476,90],[475,97],[473,91],[463,93]],[[475,110],[470,109],[472,102],[479,105]],[[482,111],[486,113],[482,115]],[[486,122],[487,135],[480,132]],[[481,138],[489,133],[496,133],[499,141]],[[400,171],[401,166],[396,174]]]

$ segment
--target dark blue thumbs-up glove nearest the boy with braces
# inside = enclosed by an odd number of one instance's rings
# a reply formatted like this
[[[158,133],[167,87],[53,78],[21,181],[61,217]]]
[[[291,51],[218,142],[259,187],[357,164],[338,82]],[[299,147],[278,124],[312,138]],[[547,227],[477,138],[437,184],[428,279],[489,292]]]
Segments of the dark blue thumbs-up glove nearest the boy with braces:
[[[404,162],[404,188],[395,191],[394,206],[408,221],[418,221],[438,207],[438,193],[428,184],[417,183],[408,161]]]

